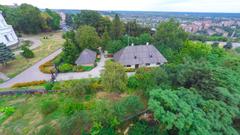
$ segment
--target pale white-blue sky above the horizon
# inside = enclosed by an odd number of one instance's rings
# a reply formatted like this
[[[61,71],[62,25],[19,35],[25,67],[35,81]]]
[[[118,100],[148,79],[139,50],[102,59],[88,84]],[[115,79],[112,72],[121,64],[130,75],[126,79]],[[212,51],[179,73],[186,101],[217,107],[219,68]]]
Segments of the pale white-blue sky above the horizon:
[[[39,8],[240,13],[240,0],[0,0]]]

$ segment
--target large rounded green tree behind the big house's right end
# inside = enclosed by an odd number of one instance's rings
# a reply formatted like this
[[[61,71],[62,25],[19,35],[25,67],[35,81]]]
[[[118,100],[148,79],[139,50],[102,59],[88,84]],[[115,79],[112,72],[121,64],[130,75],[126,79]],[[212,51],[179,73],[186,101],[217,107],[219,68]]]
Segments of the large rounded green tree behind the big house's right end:
[[[180,27],[180,24],[173,19],[162,22],[154,35],[156,46],[171,48],[173,51],[180,51],[188,34]]]

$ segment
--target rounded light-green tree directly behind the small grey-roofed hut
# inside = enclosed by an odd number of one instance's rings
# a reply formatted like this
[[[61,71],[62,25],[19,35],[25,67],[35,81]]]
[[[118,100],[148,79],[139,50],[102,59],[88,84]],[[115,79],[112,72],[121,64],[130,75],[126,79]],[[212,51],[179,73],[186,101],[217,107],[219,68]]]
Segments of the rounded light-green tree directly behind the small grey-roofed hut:
[[[81,26],[76,32],[76,41],[80,48],[89,48],[95,50],[100,45],[100,38],[94,27]]]

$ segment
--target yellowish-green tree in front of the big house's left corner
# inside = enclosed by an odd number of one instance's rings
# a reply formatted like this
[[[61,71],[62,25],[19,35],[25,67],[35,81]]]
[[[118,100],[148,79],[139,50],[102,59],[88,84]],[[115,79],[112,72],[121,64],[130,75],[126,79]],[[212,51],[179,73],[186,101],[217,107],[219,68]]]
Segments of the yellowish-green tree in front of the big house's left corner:
[[[112,61],[107,61],[101,74],[103,87],[107,91],[124,91],[127,85],[127,74],[124,67]]]

